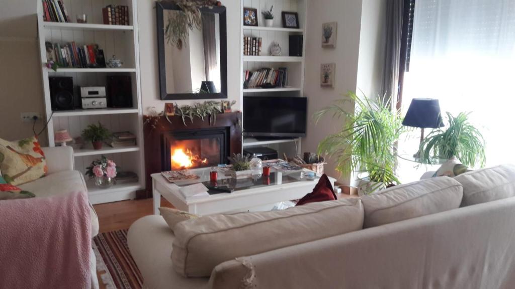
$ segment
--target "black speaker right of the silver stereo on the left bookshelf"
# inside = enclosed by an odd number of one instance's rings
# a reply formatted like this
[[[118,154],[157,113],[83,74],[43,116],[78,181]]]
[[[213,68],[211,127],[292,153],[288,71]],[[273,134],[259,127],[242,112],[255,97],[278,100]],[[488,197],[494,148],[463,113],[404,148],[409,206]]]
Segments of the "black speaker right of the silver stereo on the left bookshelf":
[[[132,107],[132,86],[130,76],[116,75],[107,77],[107,106]]]

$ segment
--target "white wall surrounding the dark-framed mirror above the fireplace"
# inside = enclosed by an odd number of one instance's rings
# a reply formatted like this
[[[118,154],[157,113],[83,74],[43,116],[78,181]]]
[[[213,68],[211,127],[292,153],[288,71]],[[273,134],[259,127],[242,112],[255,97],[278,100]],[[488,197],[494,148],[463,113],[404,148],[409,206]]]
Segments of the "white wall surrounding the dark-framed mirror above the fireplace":
[[[241,12],[240,1],[226,0],[223,2],[227,8],[227,78],[228,99],[235,100],[233,110],[241,109],[240,101],[240,55],[241,43],[239,20]],[[158,48],[156,28],[155,2],[151,0],[138,0],[138,25],[140,39],[140,69],[143,111],[147,113],[148,107],[155,106],[158,111],[164,109],[164,103],[176,102],[179,105],[202,102],[204,100],[168,100],[162,101],[159,95]]]

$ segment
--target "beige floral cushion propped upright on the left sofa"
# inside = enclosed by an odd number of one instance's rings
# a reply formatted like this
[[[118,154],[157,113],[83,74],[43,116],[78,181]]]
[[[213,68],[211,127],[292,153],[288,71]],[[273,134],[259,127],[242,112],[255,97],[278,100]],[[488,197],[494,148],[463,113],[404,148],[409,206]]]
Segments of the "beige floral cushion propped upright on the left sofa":
[[[18,186],[32,182],[48,171],[45,154],[36,136],[18,141],[0,138],[0,170],[6,182]]]

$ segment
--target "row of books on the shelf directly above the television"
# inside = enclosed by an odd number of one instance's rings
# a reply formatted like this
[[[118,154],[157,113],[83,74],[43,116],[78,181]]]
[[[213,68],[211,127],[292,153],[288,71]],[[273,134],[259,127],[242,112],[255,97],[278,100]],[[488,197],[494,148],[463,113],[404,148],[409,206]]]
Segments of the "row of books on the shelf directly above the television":
[[[245,81],[248,88],[253,87],[284,87],[288,85],[288,68],[261,68],[257,71],[245,71]]]

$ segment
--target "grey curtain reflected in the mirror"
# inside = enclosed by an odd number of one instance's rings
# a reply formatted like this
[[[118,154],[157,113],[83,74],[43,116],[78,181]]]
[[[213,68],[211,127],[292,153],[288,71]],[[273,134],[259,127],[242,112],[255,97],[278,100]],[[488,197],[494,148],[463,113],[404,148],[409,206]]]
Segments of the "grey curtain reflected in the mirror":
[[[215,32],[215,14],[202,13],[202,37],[204,40],[204,68],[205,80],[210,79],[210,71],[218,70],[216,63],[216,32]]]

